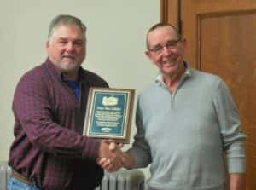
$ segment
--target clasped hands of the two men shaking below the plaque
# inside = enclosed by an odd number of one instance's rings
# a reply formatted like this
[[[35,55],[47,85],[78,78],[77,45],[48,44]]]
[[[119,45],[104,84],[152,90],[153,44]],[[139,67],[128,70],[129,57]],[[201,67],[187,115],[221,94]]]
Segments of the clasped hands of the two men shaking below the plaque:
[[[102,169],[113,172],[119,170],[121,167],[131,169],[135,163],[131,153],[125,153],[121,151],[123,144],[116,144],[112,140],[102,140],[99,148],[99,156],[96,159],[96,163],[99,164]]]

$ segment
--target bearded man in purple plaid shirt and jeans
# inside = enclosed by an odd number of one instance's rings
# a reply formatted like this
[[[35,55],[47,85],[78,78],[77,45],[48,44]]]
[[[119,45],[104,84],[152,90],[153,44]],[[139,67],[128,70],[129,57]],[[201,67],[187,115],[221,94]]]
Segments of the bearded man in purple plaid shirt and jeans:
[[[47,60],[26,72],[15,89],[9,190],[92,190],[103,175],[96,160],[118,160],[108,142],[82,135],[89,88],[108,87],[81,67],[85,32],[78,18],[55,17],[49,25]]]

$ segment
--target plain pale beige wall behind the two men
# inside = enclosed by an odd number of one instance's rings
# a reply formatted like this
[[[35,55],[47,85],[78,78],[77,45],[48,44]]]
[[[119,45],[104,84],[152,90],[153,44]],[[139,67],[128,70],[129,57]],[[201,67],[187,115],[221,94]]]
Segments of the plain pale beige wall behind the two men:
[[[156,0],[0,0],[0,160],[13,140],[11,102],[20,76],[45,60],[49,21],[73,14],[88,27],[84,67],[110,86],[134,88],[137,95],[152,83],[157,69],[144,55],[148,27],[160,20]],[[135,126],[133,123],[133,131]]]

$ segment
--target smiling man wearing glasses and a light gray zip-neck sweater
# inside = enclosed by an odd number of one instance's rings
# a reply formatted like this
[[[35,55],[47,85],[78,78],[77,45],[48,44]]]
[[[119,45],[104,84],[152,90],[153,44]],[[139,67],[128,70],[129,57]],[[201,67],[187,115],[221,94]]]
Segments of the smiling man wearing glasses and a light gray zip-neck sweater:
[[[224,81],[189,67],[186,41],[170,24],[149,29],[147,48],[160,74],[138,97],[137,135],[123,166],[151,164],[150,190],[224,190],[226,153],[230,190],[244,190],[245,135]]]

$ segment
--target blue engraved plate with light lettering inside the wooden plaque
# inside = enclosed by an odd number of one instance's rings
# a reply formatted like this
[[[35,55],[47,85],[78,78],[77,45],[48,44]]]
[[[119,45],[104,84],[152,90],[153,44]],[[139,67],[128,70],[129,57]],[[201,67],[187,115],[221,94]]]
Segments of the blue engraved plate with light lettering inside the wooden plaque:
[[[95,92],[90,135],[124,136],[128,93]]]

